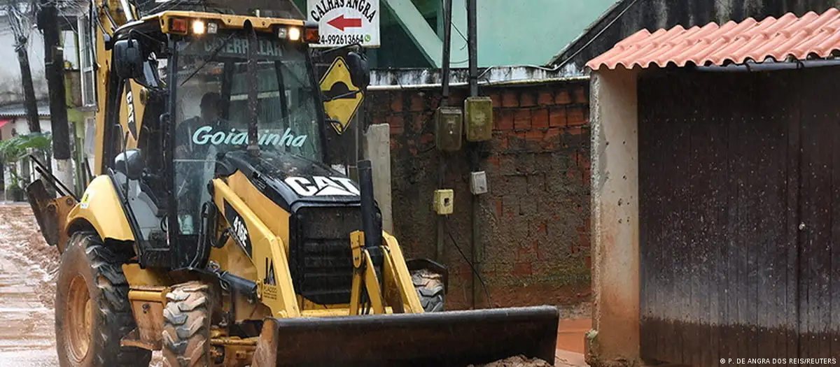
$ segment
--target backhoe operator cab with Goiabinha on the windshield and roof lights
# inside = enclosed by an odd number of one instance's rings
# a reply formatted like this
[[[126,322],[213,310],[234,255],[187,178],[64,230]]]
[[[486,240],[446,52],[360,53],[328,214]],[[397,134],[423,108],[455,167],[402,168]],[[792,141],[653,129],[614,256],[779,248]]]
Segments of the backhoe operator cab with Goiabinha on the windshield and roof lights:
[[[245,168],[259,175],[265,167],[257,166],[269,165],[285,174],[318,171],[327,159],[326,116],[307,51],[307,43],[318,41],[317,24],[259,19],[165,12],[114,34],[116,77],[108,90],[123,93],[109,92],[106,102],[102,172],[128,189],[122,201],[134,214],[129,226],[139,230],[135,243],[144,247],[141,266],[201,262],[189,244],[199,240],[213,178]],[[357,66],[350,70],[354,79],[369,73],[359,62],[349,65]],[[346,178],[328,186],[287,183],[281,191],[298,195],[359,194]],[[169,243],[185,244],[169,249],[174,256],[161,256],[166,234]]]

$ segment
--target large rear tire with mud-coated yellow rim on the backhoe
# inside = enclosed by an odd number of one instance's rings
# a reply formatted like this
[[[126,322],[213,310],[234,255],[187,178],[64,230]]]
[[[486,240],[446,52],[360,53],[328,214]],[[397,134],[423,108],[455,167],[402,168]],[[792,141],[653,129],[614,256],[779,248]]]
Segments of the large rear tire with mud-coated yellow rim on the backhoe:
[[[55,339],[61,367],[148,367],[151,352],[120,347],[136,325],[123,263],[130,247],[105,246],[92,232],[77,232],[61,254],[55,291]]]

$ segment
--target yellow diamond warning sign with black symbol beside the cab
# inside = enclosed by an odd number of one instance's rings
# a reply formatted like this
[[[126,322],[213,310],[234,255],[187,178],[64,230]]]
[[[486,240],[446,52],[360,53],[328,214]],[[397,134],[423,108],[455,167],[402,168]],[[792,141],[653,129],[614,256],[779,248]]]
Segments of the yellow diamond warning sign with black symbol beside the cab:
[[[330,65],[327,73],[321,79],[321,92],[324,96],[323,108],[327,116],[338,121],[333,122],[333,128],[341,135],[350,125],[350,120],[359,110],[364,93],[353,84],[347,62],[339,56]]]

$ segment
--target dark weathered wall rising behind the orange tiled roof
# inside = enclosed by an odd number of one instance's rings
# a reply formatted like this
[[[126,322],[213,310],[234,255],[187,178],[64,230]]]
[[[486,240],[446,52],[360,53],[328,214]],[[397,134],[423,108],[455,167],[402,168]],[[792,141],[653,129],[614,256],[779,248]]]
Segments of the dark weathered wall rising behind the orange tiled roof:
[[[641,29],[703,26],[706,23],[740,22],[745,18],[779,18],[793,12],[825,12],[840,6],[840,0],[622,0],[604,14],[580,39],[564,49],[553,61],[564,66],[568,75],[582,75],[584,65]]]

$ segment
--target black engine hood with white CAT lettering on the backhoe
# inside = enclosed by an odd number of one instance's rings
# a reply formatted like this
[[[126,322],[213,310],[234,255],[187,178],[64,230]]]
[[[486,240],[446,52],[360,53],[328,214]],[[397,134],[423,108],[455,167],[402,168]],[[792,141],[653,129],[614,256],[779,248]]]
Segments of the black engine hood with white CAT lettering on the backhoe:
[[[228,152],[219,160],[218,171],[244,173],[265,196],[290,213],[306,204],[360,204],[357,183],[323,163],[294,154]]]

